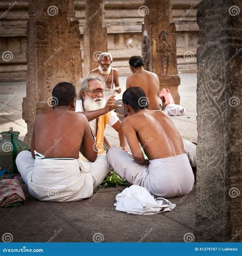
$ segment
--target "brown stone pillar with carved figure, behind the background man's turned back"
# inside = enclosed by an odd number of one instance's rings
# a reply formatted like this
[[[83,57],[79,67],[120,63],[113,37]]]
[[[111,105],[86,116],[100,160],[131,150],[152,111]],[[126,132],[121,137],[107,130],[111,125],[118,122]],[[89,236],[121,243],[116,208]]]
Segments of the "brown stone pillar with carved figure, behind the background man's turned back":
[[[171,0],[146,0],[143,10],[139,11],[144,15],[142,41],[147,35],[146,41],[150,44],[150,51],[142,51],[144,62],[151,55],[148,67],[158,75],[160,89],[170,89],[175,103],[179,104],[180,77],[177,73],[176,27],[172,22]]]

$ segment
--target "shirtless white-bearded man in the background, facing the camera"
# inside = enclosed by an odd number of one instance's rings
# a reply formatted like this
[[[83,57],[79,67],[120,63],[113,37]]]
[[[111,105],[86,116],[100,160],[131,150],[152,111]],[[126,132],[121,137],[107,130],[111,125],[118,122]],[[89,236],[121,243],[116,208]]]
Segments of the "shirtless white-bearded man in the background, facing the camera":
[[[113,61],[112,55],[108,52],[103,52],[99,56],[99,67],[93,69],[90,74],[99,74],[103,77],[106,88],[109,92],[106,93],[105,98],[108,99],[110,96],[115,95],[116,93],[121,92],[121,88],[119,87],[118,81],[118,73],[117,70],[111,68],[111,63]]]

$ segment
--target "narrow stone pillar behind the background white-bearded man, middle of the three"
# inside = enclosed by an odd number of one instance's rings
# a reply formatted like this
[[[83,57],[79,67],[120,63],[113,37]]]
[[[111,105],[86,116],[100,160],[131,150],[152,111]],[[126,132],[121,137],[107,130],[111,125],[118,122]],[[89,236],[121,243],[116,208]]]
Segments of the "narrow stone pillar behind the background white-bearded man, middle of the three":
[[[104,8],[107,1],[86,0],[86,24],[84,28],[83,74],[98,67],[100,53],[107,52],[107,28],[104,24]]]

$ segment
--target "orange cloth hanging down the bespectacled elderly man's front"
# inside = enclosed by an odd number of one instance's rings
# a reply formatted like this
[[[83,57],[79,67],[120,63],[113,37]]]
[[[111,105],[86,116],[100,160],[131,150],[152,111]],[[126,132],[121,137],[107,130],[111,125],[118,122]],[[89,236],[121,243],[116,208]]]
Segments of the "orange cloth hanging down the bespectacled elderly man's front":
[[[106,153],[103,147],[103,140],[104,140],[104,130],[107,125],[109,116],[110,116],[110,112],[98,118],[98,129],[96,131],[96,138],[95,138],[98,154]]]

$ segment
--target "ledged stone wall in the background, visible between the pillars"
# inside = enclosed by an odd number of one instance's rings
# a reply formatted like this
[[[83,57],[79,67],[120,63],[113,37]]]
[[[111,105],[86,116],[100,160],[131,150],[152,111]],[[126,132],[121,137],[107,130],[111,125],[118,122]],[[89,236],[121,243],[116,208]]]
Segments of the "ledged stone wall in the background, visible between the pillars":
[[[113,66],[120,75],[130,73],[128,59],[141,54],[141,24],[144,20],[141,7],[144,1],[106,1],[105,23],[108,33],[108,51],[113,55]],[[16,3],[16,4],[15,4]],[[51,2],[50,2],[51,3]],[[177,30],[177,63],[180,72],[196,72],[198,1],[173,0],[172,16]],[[50,4],[51,5],[51,4]],[[83,56],[85,1],[75,1],[76,19],[81,32],[80,46]],[[0,54],[9,53],[9,59],[0,58],[0,81],[26,79],[26,31],[28,1],[4,0],[0,3]],[[93,10],[94,12],[94,10]]]

